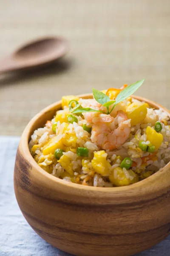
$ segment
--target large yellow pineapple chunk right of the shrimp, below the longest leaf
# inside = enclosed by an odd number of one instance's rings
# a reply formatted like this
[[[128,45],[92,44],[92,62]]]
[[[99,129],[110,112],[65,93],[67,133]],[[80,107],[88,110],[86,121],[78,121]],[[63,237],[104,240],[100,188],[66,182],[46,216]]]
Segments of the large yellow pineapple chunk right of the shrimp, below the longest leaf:
[[[131,119],[131,126],[141,123],[147,115],[145,103],[133,102],[126,108],[127,118]]]

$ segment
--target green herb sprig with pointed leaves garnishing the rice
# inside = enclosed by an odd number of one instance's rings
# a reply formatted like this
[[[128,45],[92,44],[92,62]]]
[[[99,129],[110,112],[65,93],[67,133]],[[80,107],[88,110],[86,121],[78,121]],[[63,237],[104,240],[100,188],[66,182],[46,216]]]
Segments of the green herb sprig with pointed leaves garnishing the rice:
[[[82,112],[100,112],[104,114],[110,114],[113,111],[113,108],[119,103],[122,102],[123,100],[127,99],[130,97],[136,90],[143,84],[144,79],[137,81],[134,84],[130,84],[129,86],[125,87],[123,90],[120,91],[120,93],[117,95],[115,100],[111,100],[109,96],[107,96],[105,93],[102,93],[99,90],[96,90],[92,88],[93,90],[93,96],[94,99],[102,104],[104,107],[107,108],[107,112],[100,111],[100,110],[95,110],[92,108],[82,108],[81,105],[79,105],[77,108],[75,107],[73,111],[71,111],[74,114],[77,113],[82,113]],[[109,106],[113,105],[111,111],[109,111]]]

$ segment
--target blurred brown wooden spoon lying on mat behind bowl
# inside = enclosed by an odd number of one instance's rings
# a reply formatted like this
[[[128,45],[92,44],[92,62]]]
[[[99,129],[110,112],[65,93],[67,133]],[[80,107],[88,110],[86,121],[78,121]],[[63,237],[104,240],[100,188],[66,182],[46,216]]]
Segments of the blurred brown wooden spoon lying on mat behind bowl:
[[[47,37],[31,41],[0,59],[0,73],[48,64],[65,55],[67,51],[68,41],[64,38]]]

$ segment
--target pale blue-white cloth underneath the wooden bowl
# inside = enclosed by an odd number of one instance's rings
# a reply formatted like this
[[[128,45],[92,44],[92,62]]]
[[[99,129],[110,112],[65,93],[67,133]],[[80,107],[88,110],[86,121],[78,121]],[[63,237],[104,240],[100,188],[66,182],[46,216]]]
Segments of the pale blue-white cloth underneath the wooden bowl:
[[[41,239],[18,207],[13,173],[19,141],[20,137],[0,136],[0,256],[69,256]],[[170,256],[170,236],[136,256]]]

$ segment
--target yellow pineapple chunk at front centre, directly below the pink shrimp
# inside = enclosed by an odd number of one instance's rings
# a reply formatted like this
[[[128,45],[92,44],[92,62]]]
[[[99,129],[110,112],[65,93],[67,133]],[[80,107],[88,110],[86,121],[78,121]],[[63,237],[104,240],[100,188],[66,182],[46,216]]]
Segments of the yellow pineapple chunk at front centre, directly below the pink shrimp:
[[[107,153],[104,150],[94,152],[94,158],[91,160],[95,172],[102,176],[108,176],[111,170],[111,164],[106,160]]]

